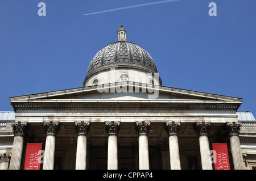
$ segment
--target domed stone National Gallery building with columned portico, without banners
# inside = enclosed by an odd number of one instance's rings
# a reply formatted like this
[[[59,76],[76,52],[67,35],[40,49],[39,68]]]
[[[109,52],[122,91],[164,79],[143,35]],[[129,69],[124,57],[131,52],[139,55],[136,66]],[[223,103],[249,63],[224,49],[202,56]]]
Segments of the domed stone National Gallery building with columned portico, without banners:
[[[44,170],[213,170],[223,143],[230,169],[254,169],[256,123],[237,112],[242,99],[162,86],[126,34],[93,57],[83,87],[10,98],[0,168],[26,169],[27,145],[40,143]]]

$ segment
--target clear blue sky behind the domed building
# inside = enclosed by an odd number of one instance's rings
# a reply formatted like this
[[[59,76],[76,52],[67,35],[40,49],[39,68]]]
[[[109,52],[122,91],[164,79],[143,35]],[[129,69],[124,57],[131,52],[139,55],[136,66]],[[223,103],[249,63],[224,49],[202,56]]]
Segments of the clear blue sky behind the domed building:
[[[90,60],[117,41],[122,24],[127,41],[154,59],[163,86],[243,98],[238,111],[256,116],[256,1],[179,0],[84,15],[151,2],[1,0],[0,111],[13,111],[11,96],[82,87]]]

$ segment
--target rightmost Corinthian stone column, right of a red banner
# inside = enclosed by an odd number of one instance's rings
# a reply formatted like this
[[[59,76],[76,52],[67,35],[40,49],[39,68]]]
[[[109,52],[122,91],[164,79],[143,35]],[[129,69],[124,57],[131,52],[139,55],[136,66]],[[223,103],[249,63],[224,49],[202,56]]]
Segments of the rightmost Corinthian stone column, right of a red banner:
[[[224,130],[229,134],[230,149],[235,170],[245,170],[245,163],[243,163],[243,156],[239,139],[240,127],[241,123],[236,122],[224,124]]]

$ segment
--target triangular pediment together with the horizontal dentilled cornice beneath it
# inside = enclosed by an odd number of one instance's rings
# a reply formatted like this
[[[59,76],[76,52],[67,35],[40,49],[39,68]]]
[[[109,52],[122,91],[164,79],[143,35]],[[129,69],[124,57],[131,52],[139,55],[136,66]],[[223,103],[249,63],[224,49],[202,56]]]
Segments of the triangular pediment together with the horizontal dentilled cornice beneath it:
[[[123,87],[126,86],[127,91]],[[107,86],[105,86],[107,87]],[[43,92],[39,94],[11,97],[11,104],[236,104],[237,108],[242,103],[241,98],[209,94],[199,91],[176,89],[173,87],[148,85],[134,85],[130,83],[109,84],[108,89],[100,86],[80,87],[76,89]],[[151,97],[150,97],[151,95]]]

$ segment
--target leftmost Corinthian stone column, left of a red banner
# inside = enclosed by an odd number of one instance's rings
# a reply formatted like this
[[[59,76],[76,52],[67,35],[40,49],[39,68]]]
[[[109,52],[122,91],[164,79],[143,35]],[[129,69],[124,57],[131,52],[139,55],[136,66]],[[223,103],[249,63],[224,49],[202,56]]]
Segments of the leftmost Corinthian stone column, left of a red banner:
[[[24,134],[27,131],[27,123],[13,123],[14,141],[13,141],[13,151],[11,153],[10,170],[19,170],[22,150],[24,142]]]

